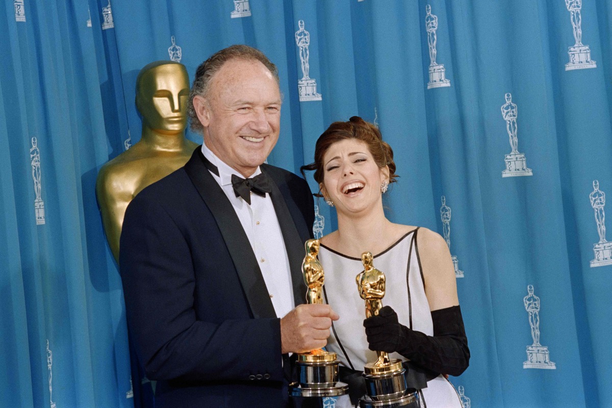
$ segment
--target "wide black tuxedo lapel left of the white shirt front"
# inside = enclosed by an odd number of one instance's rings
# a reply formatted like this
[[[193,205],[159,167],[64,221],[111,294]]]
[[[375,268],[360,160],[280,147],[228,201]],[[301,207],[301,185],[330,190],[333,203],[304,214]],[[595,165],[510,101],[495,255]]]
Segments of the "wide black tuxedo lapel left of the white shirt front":
[[[247,235],[230,200],[204,165],[201,148],[196,148],[185,164],[185,171],[211,210],[236,267],[242,289],[254,318],[275,318],[274,306],[266,290],[261,269]],[[214,254],[211,254],[214,257]]]

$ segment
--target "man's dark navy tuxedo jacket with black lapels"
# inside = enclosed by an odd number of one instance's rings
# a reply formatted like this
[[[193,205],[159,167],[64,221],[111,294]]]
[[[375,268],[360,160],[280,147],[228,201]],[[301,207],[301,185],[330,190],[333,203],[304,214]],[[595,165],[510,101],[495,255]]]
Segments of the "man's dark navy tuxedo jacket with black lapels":
[[[289,258],[296,304],[312,238],[308,184],[261,166]],[[141,191],[125,212],[120,268],[130,337],[156,407],[283,407],[289,363],[280,318],[233,206],[197,148],[185,167]],[[138,381],[138,380],[136,380]]]

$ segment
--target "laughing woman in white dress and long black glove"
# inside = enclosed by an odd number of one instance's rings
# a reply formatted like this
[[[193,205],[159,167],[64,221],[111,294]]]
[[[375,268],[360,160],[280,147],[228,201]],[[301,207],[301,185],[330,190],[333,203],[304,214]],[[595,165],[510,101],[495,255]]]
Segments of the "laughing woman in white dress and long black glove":
[[[380,131],[356,116],[332,123],[316,142],[315,162],[303,169],[315,170],[338,214],[338,230],[321,238],[319,261],[326,301],[340,315],[326,349],[346,367],[341,380],[349,382],[352,404],[365,392],[360,371],[384,351],[405,362],[420,406],[461,408],[447,376],[465,371],[469,349],[450,252],[437,233],[384,216],[382,196],[397,175]],[[355,285],[364,252],[374,254],[373,266],[386,277],[384,307],[365,320]],[[337,406],[351,403],[345,396]]]

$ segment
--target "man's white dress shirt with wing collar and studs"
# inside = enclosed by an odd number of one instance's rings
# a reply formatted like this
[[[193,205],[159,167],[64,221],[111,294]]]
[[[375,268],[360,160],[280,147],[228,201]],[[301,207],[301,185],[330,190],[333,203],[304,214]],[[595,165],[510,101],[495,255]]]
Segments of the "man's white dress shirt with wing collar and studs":
[[[258,260],[274,311],[278,318],[282,318],[294,308],[293,286],[291,285],[291,271],[285,240],[278,224],[272,199],[267,193],[266,197],[251,193],[251,204],[248,205],[242,197],[236,197],[231,183],[233,174],[244,178],[241,173],[221,161],[206,147],[206,144],[202,144],[202,153],[217,166],[219,175],[211,172],[212,177],[221,186],[236,211],[242,228],[247,234],[248,242],[255,253],[255,258]],[[261,174],[259,167],[251,177],[258,174]]]

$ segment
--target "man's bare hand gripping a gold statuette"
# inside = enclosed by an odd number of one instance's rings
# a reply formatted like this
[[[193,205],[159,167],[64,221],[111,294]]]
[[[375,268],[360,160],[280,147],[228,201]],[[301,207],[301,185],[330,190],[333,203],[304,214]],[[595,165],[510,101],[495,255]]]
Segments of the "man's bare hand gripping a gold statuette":
[[[329,305],[299,305],[280,319],[283,354],[303,353],[323,348],[329,328],[340,316]]]

